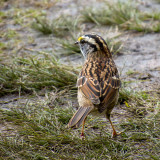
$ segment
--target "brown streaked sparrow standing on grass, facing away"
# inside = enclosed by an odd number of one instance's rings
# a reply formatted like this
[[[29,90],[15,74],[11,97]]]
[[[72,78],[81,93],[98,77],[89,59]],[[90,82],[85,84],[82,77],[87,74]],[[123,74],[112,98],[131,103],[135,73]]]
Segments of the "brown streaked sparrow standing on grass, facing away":
[[[68,123],[77,128],[84,124],[89,113],[105,114],[109,120],[113,137],[117,132],[110,120],[110,113],[117,103],[121,85],[117,67],[105,40],[94,34],[83,35],[76,44],[85,58],[85,63],[77,80],[79,109]]]

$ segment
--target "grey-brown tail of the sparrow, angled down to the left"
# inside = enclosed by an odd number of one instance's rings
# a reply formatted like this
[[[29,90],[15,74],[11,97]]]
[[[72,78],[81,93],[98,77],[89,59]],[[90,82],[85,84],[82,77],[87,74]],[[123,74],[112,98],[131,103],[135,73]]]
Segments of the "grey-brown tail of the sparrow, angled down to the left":
[[[73,115],[68,123],[69,128],[78,128],[91,112],[93,107],[79,107],[77,112]]]

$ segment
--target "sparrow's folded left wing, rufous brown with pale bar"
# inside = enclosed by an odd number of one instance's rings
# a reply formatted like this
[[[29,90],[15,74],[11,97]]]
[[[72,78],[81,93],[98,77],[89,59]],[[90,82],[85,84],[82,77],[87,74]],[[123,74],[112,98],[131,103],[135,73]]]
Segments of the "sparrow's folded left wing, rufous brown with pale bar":
[[[93,104],[100,104],[100,85],[98,80],[82,76],[77,80],[77,86]]]

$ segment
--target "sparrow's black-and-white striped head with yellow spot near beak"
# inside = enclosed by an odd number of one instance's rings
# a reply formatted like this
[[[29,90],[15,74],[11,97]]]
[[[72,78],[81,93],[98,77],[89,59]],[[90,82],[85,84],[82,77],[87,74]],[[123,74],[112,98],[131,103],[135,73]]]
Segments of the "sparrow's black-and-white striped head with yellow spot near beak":
[[[107,43],[99,35],[83,35],[78,38],[78,41],[75,44],[79,44],[84,58],[87,58],[89,54],[94,54],[95,52],[97,53],[97,51],[103,52],[108,57],[111,56],[111,53],[109,52],[109,49],[107,47]]]

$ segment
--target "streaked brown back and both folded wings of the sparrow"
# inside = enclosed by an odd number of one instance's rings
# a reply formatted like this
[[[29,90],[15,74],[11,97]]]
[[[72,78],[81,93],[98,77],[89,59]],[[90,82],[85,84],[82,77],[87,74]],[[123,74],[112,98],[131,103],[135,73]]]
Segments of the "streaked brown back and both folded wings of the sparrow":
[[[98,107],[99,112],[103,112],[115,100],[121,85],[116,66],[113,63],[113,67],[110,68],[109,65],[106,62],[101,72],[96,69],[92,70],[92,67],[89,68],[89,65],[86,65],[77,80],[78,88]]]

